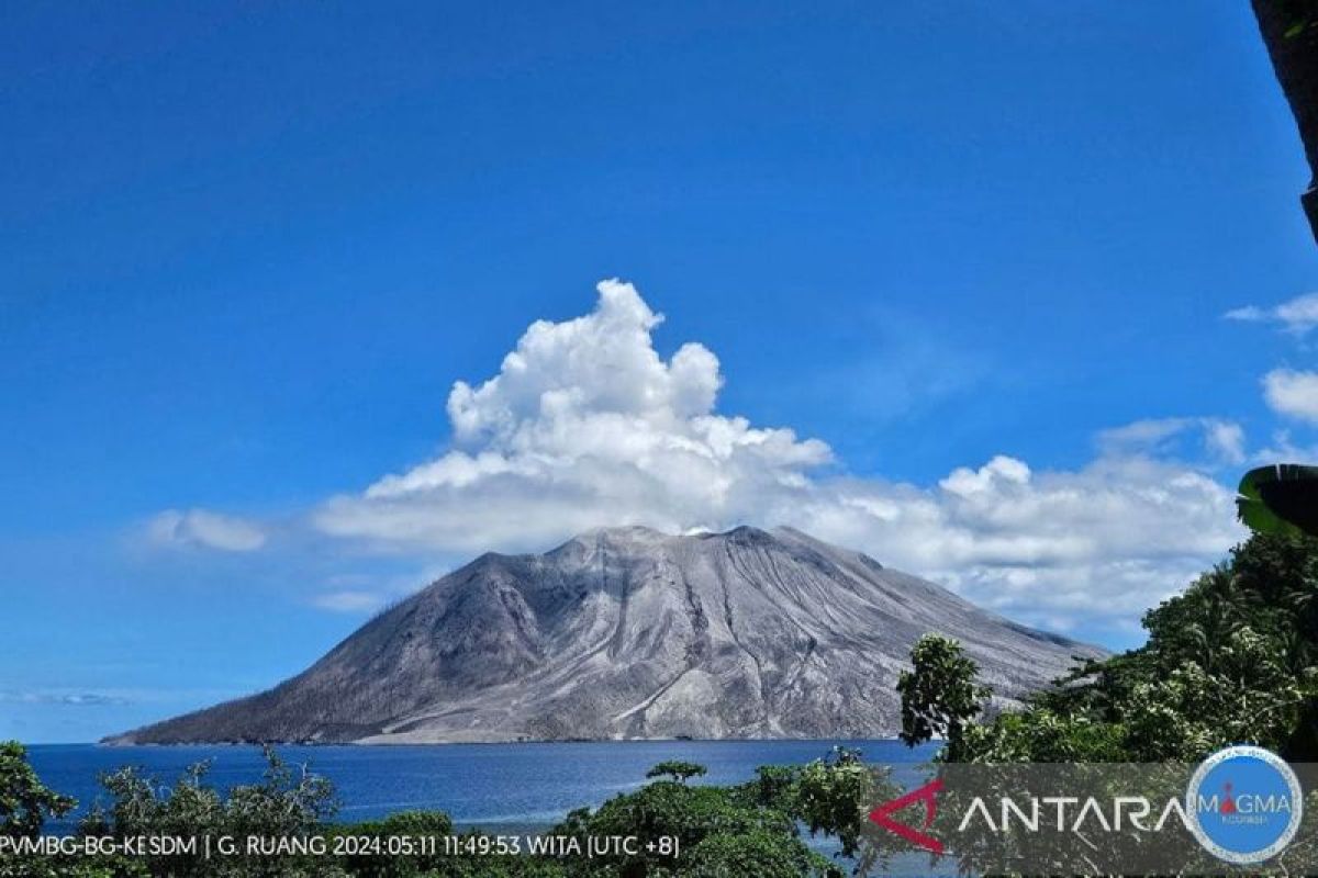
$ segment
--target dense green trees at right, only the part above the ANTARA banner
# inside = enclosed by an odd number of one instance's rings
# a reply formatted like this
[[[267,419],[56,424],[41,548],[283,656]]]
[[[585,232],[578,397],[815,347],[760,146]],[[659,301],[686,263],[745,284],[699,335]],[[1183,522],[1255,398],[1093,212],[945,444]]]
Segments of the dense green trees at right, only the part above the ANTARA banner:
[[[1239,742],[1318,760],[1318,540],[1257,533],[1144,627],[1144,646],[982,723],[967,723],[974,663],[925,637],[902,682],[903,740],[945,733],[954,762],[1194,762]]]

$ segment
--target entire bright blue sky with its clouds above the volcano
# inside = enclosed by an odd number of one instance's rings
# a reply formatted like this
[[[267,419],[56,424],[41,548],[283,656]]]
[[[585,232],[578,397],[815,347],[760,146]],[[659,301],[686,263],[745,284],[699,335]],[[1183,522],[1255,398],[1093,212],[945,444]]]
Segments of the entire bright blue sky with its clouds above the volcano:
[[[1248,4],[0,20],[0,737],[262,688],[564,509],[796,524],[1123,646],[1314,445]]]

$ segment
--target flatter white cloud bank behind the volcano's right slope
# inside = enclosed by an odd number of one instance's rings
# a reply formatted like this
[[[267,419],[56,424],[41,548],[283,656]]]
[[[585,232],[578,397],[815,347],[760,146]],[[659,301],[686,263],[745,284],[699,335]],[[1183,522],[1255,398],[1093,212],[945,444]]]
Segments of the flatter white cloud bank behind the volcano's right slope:
[[[818,486],[795,521],[1006,613],[1070,627],[1130,623],[1242,537],[1232,495],[1149,458],[1033,473],[995,457],[937,488]]]

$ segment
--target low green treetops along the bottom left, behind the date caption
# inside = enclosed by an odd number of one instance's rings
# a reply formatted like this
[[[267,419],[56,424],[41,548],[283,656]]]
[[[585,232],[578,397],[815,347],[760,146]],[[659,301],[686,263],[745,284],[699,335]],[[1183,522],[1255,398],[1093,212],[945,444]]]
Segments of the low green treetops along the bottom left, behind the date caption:
[[[41,786],[20,745],[4,745],[0,756],[0,835],[36,839],[46,817],[67,813],[74,803]],[[440,812],[331,824],[336,803],[324,778],[286,765],[272,749],[266,761],[260,783],[224,794],[207,785],[204,762],[169,788],[133,767],[103,775],[108,804],[95,806],[74,836],[120,842],[208,837],[212,856],[200,845],[133,856],[0,853],[0,878],[841,878],[845,870],[811,850],[800,827],[838,839],[854,856],[866,808],[886,792],[854,750],[838,749],[805,766],[766,766],[754,781],[731,787],[688,785],[705,774],[702,765],[663,762],[647,774],[659,779],[600,808],[571,812],[543,836],[556,841],[555,849],[532,852],[526,839],[513,849],[497,836],[456,832]],[[239,840],[241,848],[248,837],[298,840],[302,849],[215,856],[217,840]],[[638,844],[606,844],[627,837]],[[319,850],[306,849],[312,842]]]

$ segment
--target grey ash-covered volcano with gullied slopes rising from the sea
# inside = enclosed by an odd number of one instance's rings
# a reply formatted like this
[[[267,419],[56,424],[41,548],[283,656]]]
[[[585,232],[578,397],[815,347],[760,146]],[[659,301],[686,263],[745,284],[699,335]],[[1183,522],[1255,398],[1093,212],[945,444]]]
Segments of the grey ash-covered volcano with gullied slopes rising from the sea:
[[[617,528],[481,555],[273,690],[108,741],[887,736],[927,632],[1007,698],[1102,654],[797,530]]]

